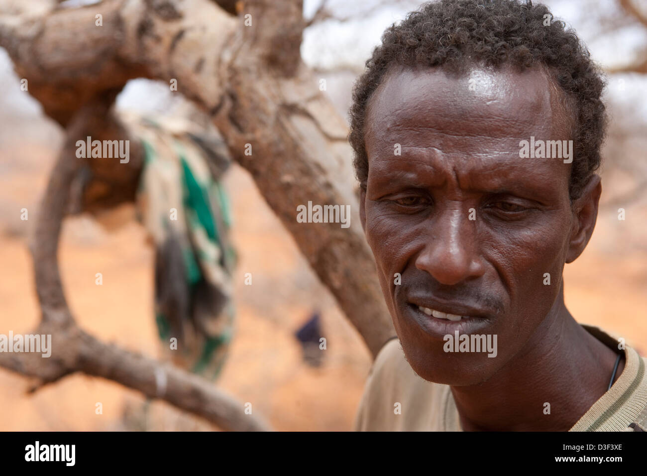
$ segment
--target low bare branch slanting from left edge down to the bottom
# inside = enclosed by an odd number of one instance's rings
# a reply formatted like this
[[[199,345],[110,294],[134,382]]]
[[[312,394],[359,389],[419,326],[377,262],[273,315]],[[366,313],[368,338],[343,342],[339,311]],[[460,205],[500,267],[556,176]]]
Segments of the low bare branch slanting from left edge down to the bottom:
[[[0,353],[0,367],[35,379],[30,392],[61,378],[83,372],[115,381],[205,418],[225,431],[268,431],[261,418],[245,414],[243,403],[203,378],[163,365],[95,339],[76,324],[43,322],[32,334],[52,336],[52,356]]]

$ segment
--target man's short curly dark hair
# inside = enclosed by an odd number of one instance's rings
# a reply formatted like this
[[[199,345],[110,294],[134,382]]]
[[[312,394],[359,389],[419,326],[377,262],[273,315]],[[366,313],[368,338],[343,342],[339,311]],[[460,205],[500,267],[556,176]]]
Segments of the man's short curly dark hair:
[[[571,200],[600,166],[606,133],[601,95],[606,80],[575,31],[553,19],[547,6],[520,0],[441,0],[424,3],[382,35],[382,44],[366,62],[353,88],[349,141],[355,150],[355,174],[366,190],[368,157],[364,144],[366,110],[371,96],[393,65],[442,67],[457,74],[472,65],[518,71],[540,66],[549,74],[572,124],[574,157]]]

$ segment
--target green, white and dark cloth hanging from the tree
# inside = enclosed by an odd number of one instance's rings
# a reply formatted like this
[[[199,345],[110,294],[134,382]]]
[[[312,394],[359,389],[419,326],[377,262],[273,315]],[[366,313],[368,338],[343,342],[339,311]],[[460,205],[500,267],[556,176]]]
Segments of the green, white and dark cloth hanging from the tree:
[[[215,380],[234,330],[236,254],[220,183],[230,159],[218,137],[191,122],[156,118],[128,124],[145,150],[137,216],[155,246],[162,348],[176,365]]]

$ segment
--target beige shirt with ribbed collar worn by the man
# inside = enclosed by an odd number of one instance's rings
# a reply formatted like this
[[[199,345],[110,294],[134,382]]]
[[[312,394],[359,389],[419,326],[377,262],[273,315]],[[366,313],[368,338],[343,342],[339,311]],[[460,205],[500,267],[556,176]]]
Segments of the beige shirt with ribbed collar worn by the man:
[[[618,340],[597,327],[583,327],[617,348]],[[625,367],[611,389],[570,431],[632,431],[628,424],[647,407],[647,359],[624,349]],[[396,412],[400,403],[400,414]],[[641,415],[642,413],[642,415]],[[644,422],[642,422],[644,423]],[[644,425],[643,425],[644,427]],[[375,358],[355,419],[359,431],[463,431],[449,385],[423,380],[411,369],[399,339],[391,339]]]

